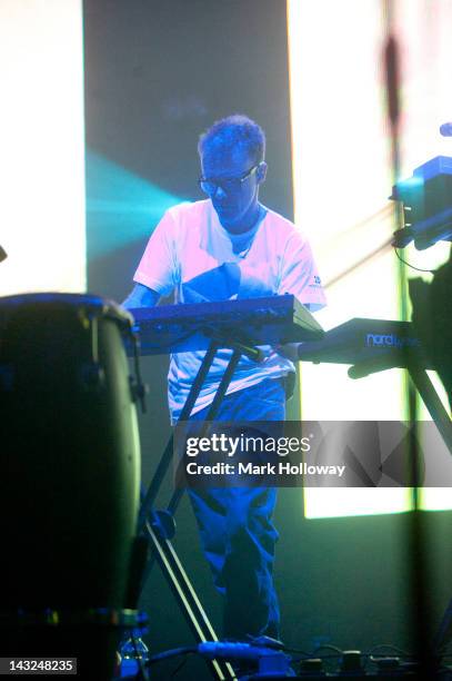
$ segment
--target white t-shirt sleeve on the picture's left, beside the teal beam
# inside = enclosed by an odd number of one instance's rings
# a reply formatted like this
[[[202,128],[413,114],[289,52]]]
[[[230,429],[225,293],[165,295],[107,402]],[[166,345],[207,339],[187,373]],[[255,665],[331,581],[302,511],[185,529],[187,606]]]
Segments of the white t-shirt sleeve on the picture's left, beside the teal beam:
[[[153,230],[133,276],[162,296],[169,295],[177,285],[178,258],[175,249],[175,223],[169,210]]]

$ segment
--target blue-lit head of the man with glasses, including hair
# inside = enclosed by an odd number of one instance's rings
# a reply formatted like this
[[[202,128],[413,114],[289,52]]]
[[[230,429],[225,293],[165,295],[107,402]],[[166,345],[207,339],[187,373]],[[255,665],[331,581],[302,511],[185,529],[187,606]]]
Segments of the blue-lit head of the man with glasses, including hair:
[[[218,120],[199,140],[201,188],[222,226],[250,229],[259,217],[259,186],[267,174],[265,136],[253,120],[234,115]]]

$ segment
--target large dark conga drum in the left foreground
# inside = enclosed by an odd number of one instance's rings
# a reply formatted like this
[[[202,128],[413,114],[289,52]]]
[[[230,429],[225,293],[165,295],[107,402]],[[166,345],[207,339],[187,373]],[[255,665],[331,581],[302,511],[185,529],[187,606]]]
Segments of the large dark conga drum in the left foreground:
[[[111,679],[130,605],[131,322],[90,295],[0,298],[1,654],[78,658],[87,679]]]

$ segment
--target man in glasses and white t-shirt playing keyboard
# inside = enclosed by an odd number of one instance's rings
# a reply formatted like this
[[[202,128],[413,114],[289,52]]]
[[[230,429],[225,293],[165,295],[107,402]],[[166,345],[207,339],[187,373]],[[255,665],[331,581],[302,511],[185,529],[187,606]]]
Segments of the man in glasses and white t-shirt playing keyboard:
[[[201,136],[199,180],[208,199],[165,213],[149,239],[127,307],[294,294],[310,309],[324,305],[311,248],[294,225],[259,201],[265,179],[265,138],[245,116],[217,121]],[[243,357],[218,421],[283,421],[287,378],[294,366],[281,348],[260,363]],[[293,353],[293,348],[292,348]],[[174,423],[204,353],[171,357],[169,405]],[[289,353],[287,353],[289,354]],[[192,418],[205,418],[231,355],[218,353]],[[274,488],[190,490],[205,556],[225,595],[224,635],[279,635],[272,582],[278,533],[271,523]]]

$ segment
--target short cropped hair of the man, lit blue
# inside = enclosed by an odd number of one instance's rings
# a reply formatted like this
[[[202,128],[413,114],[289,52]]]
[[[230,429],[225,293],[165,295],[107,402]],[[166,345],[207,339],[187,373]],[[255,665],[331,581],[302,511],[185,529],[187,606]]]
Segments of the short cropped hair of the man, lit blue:
[[[242,114],[234,114],[217,120],[198,141],[198,154],[202,156],[207,147],[243,147],[255,162],[265,157],[265,134],[262,128]]]

